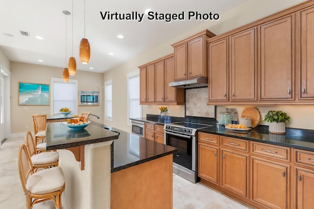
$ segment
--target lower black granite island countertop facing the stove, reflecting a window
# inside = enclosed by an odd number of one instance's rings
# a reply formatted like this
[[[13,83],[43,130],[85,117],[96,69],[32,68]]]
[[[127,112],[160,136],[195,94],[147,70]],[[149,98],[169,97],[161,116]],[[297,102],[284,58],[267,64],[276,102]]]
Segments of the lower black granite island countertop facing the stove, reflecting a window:
[[[110,128],[110,127],[108,127]],[[112,128],[120,133],[111,144],[111,173],[177,152],[177,148]]]

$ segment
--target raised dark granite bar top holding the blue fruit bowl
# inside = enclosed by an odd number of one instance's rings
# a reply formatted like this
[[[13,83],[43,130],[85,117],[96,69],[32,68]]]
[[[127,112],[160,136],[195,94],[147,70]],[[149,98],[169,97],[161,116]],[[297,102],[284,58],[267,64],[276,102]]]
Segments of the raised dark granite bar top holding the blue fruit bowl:
[[[65,149],[118,138],[118,132],[104,129],[104,125],[94,121],[82,130],[72,130],[62,122],[47,123],[47,150]]]

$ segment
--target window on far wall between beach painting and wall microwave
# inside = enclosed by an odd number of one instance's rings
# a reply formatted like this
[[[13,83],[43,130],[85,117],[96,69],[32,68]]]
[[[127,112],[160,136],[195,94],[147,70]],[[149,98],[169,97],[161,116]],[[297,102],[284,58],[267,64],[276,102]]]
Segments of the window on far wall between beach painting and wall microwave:
[[[52,115],[59,114],[61,108],[69,108],[71,114],[77,114],[78,81],[70,79],[64,82],[62,78],[52,78]]]

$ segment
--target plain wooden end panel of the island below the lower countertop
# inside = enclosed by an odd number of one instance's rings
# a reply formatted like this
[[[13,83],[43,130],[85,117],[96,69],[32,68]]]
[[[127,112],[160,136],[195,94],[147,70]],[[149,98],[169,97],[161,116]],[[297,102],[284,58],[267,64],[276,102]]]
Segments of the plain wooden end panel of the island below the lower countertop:
[[[111,173],[111,209],[172,209],[172,155]]]

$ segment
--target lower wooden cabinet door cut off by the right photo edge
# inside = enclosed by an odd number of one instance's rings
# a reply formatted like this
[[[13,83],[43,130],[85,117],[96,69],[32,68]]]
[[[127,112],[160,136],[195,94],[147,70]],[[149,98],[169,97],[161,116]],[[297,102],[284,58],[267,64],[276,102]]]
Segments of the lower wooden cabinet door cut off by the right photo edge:
[[[296,208],[313,209],[314,171],[296,169]]]

